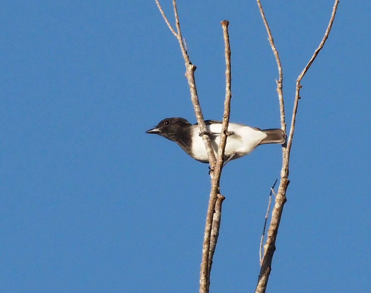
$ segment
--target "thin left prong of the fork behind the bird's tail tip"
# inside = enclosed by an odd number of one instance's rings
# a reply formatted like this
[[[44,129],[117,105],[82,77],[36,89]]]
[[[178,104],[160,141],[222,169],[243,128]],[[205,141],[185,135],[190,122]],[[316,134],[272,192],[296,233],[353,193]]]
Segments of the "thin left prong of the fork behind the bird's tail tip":
[[[262,4],[260,3],[260,0],[256,0],[256,1],[257,1],[257,5],[259,6],[260,15],[263,18],[263,22],[264,22],[265,28],[267,30],[268,41],[269,41],[270,47],[272,48],[273,54],[275,55],[275,58],[276,58],[276,63],[277,63],[277,67],[278,67],[278,80],[276,80],[276,83],[277,83],[277,93],[278,93],[279,110],[280,110],[281,129],[286,132],[285,107],[283,105],[283,93],[282,93],[283,76],[282,76],[281,61],[279,59],[278,51],[277,51],[275,43],[273,41],[272,33],[270,32],[270,28],[268,26],[267,19],[265,18]]]

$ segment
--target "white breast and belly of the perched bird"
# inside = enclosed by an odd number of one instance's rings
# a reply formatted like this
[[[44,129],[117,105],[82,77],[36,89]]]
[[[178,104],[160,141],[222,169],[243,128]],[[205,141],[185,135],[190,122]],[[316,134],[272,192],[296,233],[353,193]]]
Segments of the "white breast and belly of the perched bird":
[[[221,124],[206,125],[206,128],[207,131],[217,133],[221,132]],[[227,138],[225,155],[229,157],[234,153],[235,155],[233,159],[237,159],[249,154],[267,136],[262,131],[237,123],[229,123],[228,131],[233,131],[234,134],[229,135]],[[202,137],[198,136],[199,133],[200,128],[198,127],[198,125],[194,125],[194,133],[192,136],[193,157],[199,161],[209,161],[203,139]],[[214,149],[214,153],[217,156],[220,134],[211,135],[210,139],[211,145]]]

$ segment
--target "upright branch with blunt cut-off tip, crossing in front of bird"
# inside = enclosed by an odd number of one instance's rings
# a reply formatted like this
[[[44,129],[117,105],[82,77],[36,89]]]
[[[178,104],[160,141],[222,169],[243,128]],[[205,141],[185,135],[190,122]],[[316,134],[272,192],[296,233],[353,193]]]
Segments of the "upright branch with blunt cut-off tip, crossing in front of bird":
[[[230,45],[229,45],[229,35],[228,35],[228,25],[227,20],[221,21],[221,26],[223,28],[223,38],[224,38],[224,55],[226,58],[226,98],[224,101],[224,113],[223,122],[221,127],[220,142],[218,147],[218,156],[216,160],[216,165],[214,169],[214,177],[211,179],[211,191],[209,206],[207,209],[206,225],[204,233],[204,242],[202,249],[202,259],[200,268],[200,293],[209,292],[210,286],[210,272],[211,265],[213,263],[212,257],[214,255],[214,250],[216,246],[217,237],[211,237],[212,231],[219,231],[220,219],[213,221],[213,217],[217,216],[220,218],[220,213],[216,211],[216,204],[220,201],[220,211],[221,202],[224,200],[224,196],[219,194],[219,181],[221,175],[221,169],[223,168],[223,158],[224,150],[227,143],[227,131],[229,123],[230,114],[230,100],[231,94],[231,63],[230,63]],[[216,234],[215,234],[216,235]]]

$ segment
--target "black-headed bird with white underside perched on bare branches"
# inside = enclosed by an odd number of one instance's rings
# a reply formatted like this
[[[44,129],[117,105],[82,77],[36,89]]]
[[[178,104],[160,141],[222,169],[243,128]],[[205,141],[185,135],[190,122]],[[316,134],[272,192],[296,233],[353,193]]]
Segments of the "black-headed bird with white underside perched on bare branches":
[[[187,119],[171,117],[161,120],[145,133],[158,134],[176,142],[188,155],[199,162],[209,163],[202,135],[210,137],[211,146],[217,156],[222,121],[205,120],[207,132],[201,133],[198,123],[191,124]],[[260,129],[239,123],[229,123],[227,143],[224,151],[224,165],[241,158],[262,144],[285,144],[286,134],[280,128]]]

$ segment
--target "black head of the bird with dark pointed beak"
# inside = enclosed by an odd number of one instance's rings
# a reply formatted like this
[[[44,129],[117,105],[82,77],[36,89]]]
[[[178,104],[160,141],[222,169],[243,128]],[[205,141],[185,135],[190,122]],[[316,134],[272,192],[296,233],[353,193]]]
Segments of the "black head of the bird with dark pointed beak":
[[[177,141],[184,135],[188,127],[192,124],[184,118],[172,117],[161,120],[154,128],[147,130],[145,133],[161,135],[172,141]]]

